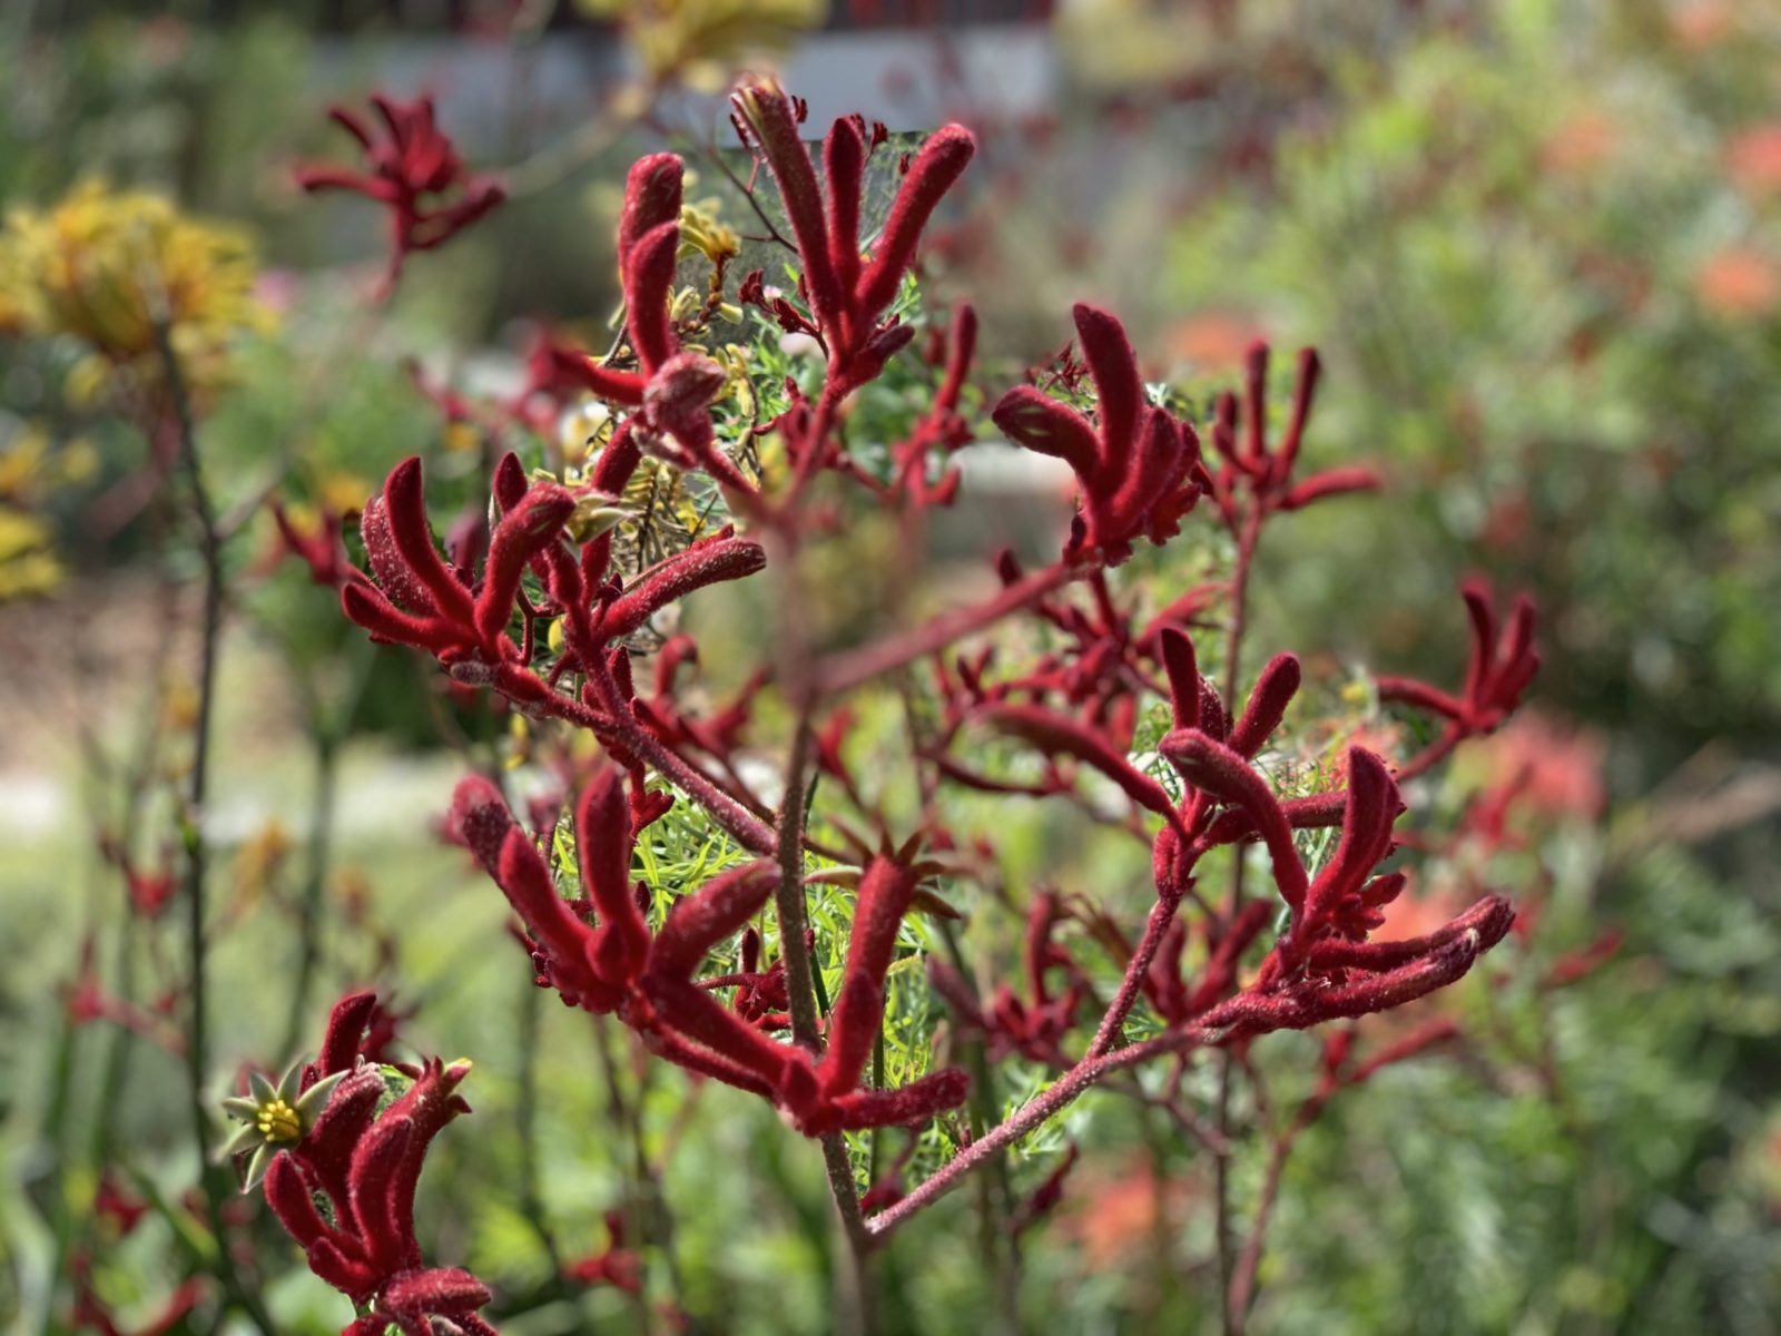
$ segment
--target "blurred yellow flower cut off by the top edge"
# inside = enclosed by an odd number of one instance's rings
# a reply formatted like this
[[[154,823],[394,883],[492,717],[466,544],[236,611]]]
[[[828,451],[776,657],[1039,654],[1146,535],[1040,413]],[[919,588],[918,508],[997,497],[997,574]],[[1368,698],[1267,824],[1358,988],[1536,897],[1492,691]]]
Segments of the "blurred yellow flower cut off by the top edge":
[[[789,46],[828,18],[826,0],[581,0],[622,23],[652,78],[718,93],[757,52]]]

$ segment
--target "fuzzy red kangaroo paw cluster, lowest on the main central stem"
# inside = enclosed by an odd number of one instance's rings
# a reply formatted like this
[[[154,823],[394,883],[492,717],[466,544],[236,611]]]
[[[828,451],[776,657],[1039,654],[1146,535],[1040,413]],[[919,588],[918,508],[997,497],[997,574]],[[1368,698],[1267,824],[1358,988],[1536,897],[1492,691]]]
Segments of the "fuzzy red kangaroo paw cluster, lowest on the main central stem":
[[[860,878],[826,1051],[812,1058],[768,1039],[695,980],[705,955],[741,932],[773,894],[778,869],[771,862],[718,875],[652,932],[639,907],[643,891],[630,884],[636,828],[618,771],[602,771],[575,803],[582,894],[591,905],[586,917],[557,894],[543,855],[488,780],[463,780],[452,812],[463,841],[525,923],[540,982],[565,1003],[616,1014],[661,1056],[771,1099],[810,1136],[924,1122],[964,1101],[967,1079],[956,1069],[896,1090],[860,1088],[883,1019],[898,926],[915,894],[915,873],[905,864],[878,857]]]

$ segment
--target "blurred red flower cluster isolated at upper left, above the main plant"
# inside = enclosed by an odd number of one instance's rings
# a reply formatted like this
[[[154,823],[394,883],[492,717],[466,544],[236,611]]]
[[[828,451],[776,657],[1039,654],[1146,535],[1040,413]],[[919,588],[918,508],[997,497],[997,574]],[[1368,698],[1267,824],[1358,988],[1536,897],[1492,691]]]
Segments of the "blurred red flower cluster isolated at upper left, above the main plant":
[[[395,102],[372,94],[370,105],[383,121],[381,134],[346,107],[328,110],[365,150],[369,171],[312,164],[297,169],[297,183],[305,191],[353,191],[390,210],[388,290],[410,253],[443,246],[506,200],[506,191],[465,171],[458,148],[435,125],[433,98]]]

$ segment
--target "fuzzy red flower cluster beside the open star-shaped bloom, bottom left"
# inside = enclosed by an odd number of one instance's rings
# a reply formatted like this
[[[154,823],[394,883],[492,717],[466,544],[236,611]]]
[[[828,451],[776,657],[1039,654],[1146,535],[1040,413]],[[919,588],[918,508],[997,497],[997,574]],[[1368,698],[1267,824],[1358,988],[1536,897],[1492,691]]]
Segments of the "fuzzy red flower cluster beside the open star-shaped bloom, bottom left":
[[[272,1156],[265,1201],[310,1270],[363,1309],[342,1336],[383,1336],[390,1325],[404,1336],[436,1336],[435,1318],[492,1336],[477,1315],[488,1286],[454,1267],[427,1267],[415,1240],[420,1165],[438,1131],[470,1112],[456,1094],[470,1063],[433,1058],[406,1069],[413,1083],[379,1113],[388,1081],[362,1058],[374,1010],[370,992],[335,1006],[321,1058],[303,1071],[301,1085],[338,1083],[315,1124]]]

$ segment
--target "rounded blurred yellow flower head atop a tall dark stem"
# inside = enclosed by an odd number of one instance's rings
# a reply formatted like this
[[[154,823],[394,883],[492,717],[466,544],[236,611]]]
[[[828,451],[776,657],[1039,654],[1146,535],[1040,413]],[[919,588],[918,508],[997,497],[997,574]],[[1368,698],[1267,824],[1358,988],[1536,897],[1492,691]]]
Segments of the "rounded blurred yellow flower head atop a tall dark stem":
[[[89,180],[48,212],[9,216],[0,321],[87,344],[94,360],[77,369],[85,392],[121,367],[153,378],[155,326],[166,321],[187,381],[207,390],[228,378],[233,340],[271,324],[253,296],[255,274],[240,230],[191,219],[159,194]]]

